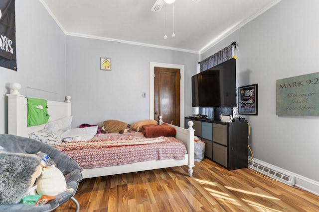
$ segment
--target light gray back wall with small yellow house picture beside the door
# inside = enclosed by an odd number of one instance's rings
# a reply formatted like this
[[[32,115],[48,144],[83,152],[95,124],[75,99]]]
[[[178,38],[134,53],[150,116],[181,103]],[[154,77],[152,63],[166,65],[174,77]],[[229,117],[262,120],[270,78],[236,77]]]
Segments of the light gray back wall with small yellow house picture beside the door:
[[[196,73],[197,54],[73,36],[67,36],[66,44],[72,127],[149,119],[150,62],[184,65],[184,113],[192,114],[191,75]],[[112,71],[100,70],[100,57],[112,58]]]

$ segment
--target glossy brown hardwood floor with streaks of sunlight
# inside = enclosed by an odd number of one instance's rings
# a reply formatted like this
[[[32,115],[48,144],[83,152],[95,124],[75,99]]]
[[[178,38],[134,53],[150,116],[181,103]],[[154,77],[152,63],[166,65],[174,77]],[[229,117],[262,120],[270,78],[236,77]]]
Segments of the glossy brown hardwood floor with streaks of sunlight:
[[[252,169],[228,171],[209,159],[80,182],[80,212],[318,212],[319,197]],[[55,212],[74,212],[72,201]]]

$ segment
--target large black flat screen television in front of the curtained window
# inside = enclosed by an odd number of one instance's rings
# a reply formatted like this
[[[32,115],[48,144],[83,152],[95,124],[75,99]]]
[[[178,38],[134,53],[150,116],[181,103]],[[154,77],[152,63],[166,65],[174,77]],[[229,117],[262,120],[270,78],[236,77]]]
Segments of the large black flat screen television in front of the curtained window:
[[[236,107],[236,60],[191,77],[193,107]]]

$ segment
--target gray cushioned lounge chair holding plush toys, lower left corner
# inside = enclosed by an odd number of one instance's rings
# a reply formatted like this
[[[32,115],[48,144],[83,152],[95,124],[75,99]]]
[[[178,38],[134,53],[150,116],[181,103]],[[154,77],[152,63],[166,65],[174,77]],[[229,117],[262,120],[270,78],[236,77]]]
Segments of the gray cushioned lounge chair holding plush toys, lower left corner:
[[[8,152],[27,154],[36,154],[39,151],[45,152],[56,163],[56,167],[63,173],[66,186],[71,190],[56,195],[53,200],[45,205],[2,204],[0,205],[0,212],[49,212],[67,202],[69,199],[75,203],[76,211],[79,211],[80,207],[74,195],[79,182],[82,180],[82,168],[74,160],[46,143],[19,136],[1,134],[0,146],[4,147]],[[3,192],[1,191],[1,185],[0,192]]]

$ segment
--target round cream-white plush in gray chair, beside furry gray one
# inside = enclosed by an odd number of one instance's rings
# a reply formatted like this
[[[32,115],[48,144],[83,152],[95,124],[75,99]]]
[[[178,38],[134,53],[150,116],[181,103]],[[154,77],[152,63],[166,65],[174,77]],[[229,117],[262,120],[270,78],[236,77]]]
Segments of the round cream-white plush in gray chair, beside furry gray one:
[[[66,189],[66,181],[62,172],[55,166],[43,168],[41,175],[35,181],[36,192],[39,195],[56,196]]]

